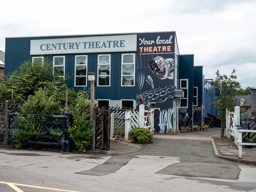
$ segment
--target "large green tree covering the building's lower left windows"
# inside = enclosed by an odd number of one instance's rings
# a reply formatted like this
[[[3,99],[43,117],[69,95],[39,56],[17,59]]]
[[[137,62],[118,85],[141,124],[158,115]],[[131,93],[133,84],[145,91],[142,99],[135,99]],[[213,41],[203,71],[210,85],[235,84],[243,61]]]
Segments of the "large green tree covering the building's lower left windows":
[[[11,98],[12,90],[14,98],[27,99],[40,88],[56,92],[63,89],[70,76],[61,77],[60,71],[53,71],[52,62],[49,59],[37,59],[31,63],[30,60],[22,63],[18,69],[4,77],[0,83],[0,97]]]

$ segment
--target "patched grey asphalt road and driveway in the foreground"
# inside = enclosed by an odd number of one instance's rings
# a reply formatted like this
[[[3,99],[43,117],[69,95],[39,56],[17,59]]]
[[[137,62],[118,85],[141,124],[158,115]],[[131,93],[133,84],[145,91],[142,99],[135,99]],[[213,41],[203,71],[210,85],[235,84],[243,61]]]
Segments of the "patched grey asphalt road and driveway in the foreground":
[[[119,155],[0,148],[0,192],[256,190],[256,166],[216,157],[210,140],[152,141]]]

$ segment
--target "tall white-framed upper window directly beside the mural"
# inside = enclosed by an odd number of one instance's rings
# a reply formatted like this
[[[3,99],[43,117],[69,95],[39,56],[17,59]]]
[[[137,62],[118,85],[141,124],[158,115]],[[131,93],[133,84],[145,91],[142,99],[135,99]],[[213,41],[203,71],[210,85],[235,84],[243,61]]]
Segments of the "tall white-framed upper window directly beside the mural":
[[[135,86],[135,53],[122,54],[121,86]]]

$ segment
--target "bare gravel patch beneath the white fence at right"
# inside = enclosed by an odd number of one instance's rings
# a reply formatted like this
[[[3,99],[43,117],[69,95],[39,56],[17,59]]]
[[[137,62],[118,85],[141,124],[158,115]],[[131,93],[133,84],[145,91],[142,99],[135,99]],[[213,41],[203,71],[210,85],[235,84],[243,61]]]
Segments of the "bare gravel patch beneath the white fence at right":
[[[231,158],[238,158],[238,148],[234,139],[214,138],[219,155]],[[251,149],[242,146],[242,159],[256,161],[256,147]]]

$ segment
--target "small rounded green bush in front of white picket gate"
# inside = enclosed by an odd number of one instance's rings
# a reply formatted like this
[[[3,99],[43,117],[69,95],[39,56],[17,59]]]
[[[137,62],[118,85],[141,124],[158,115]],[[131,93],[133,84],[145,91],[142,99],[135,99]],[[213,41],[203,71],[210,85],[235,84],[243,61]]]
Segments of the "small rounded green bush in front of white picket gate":
[[[139,144],[148,144],[153,137],[153,133],[143,127],[135,127],[133,131],[129,132],[129,136],[134,142]]]

